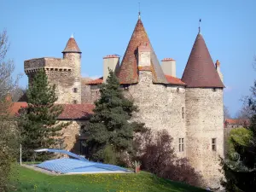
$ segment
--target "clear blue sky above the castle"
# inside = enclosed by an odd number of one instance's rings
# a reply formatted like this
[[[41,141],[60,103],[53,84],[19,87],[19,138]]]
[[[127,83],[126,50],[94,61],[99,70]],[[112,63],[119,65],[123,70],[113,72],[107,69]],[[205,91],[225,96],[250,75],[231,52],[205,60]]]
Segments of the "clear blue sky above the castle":
[[[177,61],[181,78],[198,32],[212,55],[221,62],[224,74],[224,103],[231,114],[241,108],[256,71],[256,1],[21,1],[0,0],[0,31],[7,29],[15,61],[15,74],[24,73],[24,61],[32,58],[61,57],[68,38],[82,50],[82,75],[102,75],[104,55],[124,55],[137,22],[141,3],[143,24],[158,59]],[[26,86],[24,74],[20,84]]]

